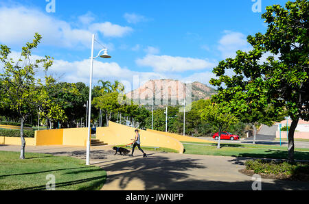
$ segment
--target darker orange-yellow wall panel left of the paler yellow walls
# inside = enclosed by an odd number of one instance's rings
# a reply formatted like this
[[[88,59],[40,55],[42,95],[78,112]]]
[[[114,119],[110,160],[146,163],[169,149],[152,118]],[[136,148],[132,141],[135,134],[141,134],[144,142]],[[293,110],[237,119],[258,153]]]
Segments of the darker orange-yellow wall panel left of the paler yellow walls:
[[[36,145],[57,145],[62,144],[63,129],[46,129],[35,131]]]

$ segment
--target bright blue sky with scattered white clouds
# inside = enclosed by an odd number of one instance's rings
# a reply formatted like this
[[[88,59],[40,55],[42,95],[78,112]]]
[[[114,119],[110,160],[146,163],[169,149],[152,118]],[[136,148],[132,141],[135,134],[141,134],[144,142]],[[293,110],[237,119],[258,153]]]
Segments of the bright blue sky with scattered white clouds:
[[[209,85],[212,68],[238,49],[248,51],[248,35],[264,33],[261,14],[282,0],[45,0],[0,1],[0,44],[17,56],[34,33],[43,36],[34,58],[50,55],[50,72],[60,81],[89,84],[91,34],[108,47],[109,60],[95,60],[94,84],[117,79],[133,86],[148,79],[200,81]],[[49,4],[50,5],[50,4]],[[49,7],[52,8],[52,7]],[[101,49],[95,44],[95,54]],[[132,87],[133,88],[133,87]]]

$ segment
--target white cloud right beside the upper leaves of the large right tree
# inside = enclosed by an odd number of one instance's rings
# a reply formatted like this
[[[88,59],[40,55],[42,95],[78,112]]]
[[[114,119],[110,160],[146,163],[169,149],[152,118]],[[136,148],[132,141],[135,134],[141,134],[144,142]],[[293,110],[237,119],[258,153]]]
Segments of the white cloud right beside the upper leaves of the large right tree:
[[[249,51],[251,45],[247,42],[247,37],[234,31],[224,31],[225,35],[219,40],[218,50],[223,59],[233,58],[236,56],[236,51]]]

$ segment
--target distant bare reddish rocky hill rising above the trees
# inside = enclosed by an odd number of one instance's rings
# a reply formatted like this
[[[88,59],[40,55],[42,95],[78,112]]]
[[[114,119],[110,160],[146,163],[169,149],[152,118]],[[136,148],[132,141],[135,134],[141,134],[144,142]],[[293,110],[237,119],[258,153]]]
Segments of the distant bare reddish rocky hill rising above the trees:
[[[134,99],[142,101],[143,99],[150,99],[152,97],[152,90],[154,90],[155,100],[162,101],[163,99],[175,99],[177,104],[183,101],[185,93],[191,90],[192,101],[198,101],[200,99],[210,99],[213,94],[216,94],[214,88],[195,81],[190,84],[184,84],[179,80],[173,79],[156,79],[149,80],[139,88],[130,91],[126,94],[128,99]],[[189,94],[189,93],[188,93]]]

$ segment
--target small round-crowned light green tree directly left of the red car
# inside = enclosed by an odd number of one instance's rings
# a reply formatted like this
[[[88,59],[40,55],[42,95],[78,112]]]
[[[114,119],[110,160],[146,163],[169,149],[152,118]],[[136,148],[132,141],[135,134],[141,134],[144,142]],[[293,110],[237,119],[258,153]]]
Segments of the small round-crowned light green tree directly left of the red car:
[[[206,120],[207,123],[218,128],[219,138],[217,148],[220,149],[221,131],[222,129],[226,129],[229,126],[236,124],[238,122],[236,116],[233,116],[233,114],[231,114],[231,112],[229,112],[229,110],[222,104],[216,103],[205,107],[200,112],[202,120]]]

